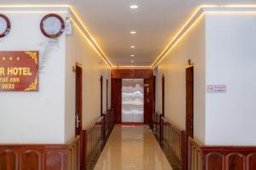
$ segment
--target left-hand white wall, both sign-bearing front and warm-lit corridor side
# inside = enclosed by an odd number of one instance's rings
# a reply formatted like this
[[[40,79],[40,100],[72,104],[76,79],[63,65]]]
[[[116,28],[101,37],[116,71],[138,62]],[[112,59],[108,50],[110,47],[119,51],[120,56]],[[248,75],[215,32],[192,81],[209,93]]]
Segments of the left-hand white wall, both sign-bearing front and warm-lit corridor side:
[[[46,13],[6,14],[12,29],[8,37],[0,39],[0,50],[38,50],[44,68],[40,70],[38,92],[0,94],[0,144],[63,144],[74,137],[75,62],[83,65],[83,128],[100,117],[101,75],[103,111],[107,110],[107,78],[110,107],[108,65],[76,27],[72,36],[63,34],[58,41],[44,37],[39,24]],[[61,15],[65,19],[67,13]]]

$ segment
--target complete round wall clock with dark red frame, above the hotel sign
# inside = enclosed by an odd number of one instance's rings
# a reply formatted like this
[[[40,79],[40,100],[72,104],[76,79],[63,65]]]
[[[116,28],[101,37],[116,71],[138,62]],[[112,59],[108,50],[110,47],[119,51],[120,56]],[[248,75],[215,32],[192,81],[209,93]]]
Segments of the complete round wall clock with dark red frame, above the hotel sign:
[[[60,37],[65,30],[64,20],[58,14],[47,14],[41,20],[41,31],[49,38]]]

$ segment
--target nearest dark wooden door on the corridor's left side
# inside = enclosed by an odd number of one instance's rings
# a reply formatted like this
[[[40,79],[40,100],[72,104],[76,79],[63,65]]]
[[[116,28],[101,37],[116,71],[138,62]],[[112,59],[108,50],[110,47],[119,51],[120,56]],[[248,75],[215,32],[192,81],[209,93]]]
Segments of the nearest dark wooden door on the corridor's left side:
[[[76,135],[82,132],[82,66],[76,65]]]

